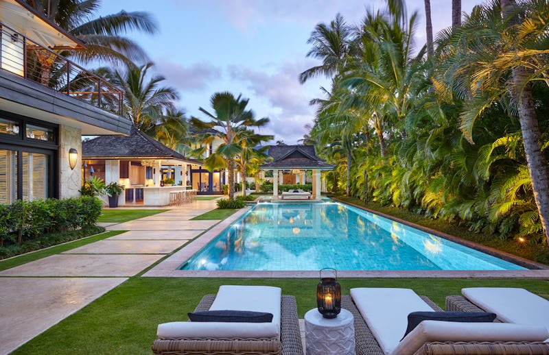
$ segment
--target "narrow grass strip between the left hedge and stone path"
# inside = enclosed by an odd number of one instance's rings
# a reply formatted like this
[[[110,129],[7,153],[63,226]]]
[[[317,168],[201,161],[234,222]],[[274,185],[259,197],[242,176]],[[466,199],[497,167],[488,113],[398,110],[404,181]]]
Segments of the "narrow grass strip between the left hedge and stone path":
[[[34,260],[38,260],[41,258],[45,258],[46,256],[51,256],[54,254],[60,254],[62,252],[67,252],[67,250],[74,249],[76,247],[81,247],[82,245],[86,245],[89,243],[93,243],[96,241],[101,241],[104,238],[108,238],[110,236],[115,236],[117,234],[121,234],[126,232],[125,230],[113,230],[110,232],[104,232],[102,234],[95,234],[93,236],[84,237],[81,239],[78,239],[76,241],[71,241],[69,243],[56,245],[54,247],[49,247],[47,249],[40,249],[36,252],[23,254],[20,256],[16,256],[14,258],[10,258],[8,260],[1,260],[0,261],[0,271],[5,269],[11,269],[12,267],[16,267],[19,265],[26,264],[27,262],[31,262]]]

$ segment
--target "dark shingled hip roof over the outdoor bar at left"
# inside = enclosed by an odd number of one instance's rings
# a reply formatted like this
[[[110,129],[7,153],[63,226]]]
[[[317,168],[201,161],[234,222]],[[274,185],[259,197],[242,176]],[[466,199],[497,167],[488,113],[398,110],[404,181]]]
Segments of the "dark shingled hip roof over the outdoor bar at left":
[[[82,142],[82,158],[85,159],[163,159],[181,160],[202,165],[137,130],[130,129],[129,136],[99,136]]]

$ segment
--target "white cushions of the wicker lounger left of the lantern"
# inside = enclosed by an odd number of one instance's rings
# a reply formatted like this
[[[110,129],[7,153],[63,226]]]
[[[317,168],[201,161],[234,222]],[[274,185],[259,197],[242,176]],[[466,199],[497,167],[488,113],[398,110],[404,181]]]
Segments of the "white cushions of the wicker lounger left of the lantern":
[[[251,310],[272,313],[270,323],[176,321],[159,324],[160,338],[276,338],[280,339],[282,291],[272,286],[222,285],[210,310]]]

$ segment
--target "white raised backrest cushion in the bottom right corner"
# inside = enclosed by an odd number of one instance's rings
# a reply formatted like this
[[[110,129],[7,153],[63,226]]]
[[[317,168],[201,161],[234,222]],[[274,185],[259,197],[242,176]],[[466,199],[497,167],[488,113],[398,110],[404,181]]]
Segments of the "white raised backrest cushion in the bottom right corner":
[[[548,335],[542,326],[422,321],[402,339],[391,355],[414,354],[423,344],[432,341],[544,341]]]

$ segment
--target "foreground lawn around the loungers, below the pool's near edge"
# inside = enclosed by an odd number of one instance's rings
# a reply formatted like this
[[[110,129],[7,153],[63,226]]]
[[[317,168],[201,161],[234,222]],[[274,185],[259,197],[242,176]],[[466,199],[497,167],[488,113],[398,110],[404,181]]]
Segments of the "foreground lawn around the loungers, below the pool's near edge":
[[[341,279],[352,287],[404,287],[444,306],[446,295],[469,286],[524,287],[549,298],[549,282],[537,280]],[[78,313],[36,336],[12,354],[150,354],[156,326],[185,321],[202,295],[221,284],[279,286],[296,296],[299,317],[316,307],[317,279],[205,279],[134,277]]]

